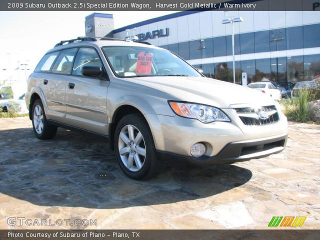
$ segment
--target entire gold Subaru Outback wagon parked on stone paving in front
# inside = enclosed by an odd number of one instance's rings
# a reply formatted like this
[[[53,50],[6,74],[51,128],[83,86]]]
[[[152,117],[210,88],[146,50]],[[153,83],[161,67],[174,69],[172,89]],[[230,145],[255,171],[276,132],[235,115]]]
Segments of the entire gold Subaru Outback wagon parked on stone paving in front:
[[[25,99],[38,138],[54,137],[58,126],[108,137],[135,179],[154,176],[165,161],[264,157],[287,139],[286,118],[265,94],[204,77],[170,51],[132,41],[57,43],[29,76]]]

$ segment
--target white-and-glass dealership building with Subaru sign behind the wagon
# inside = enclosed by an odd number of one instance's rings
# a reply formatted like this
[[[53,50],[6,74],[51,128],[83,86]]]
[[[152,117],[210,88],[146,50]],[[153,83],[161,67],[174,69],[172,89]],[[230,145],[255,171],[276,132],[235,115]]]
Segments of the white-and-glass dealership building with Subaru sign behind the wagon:
[[[320,11],[181,11],[112,29],[111,14],[86,17],[86,35],[139,40],[168,49],[201,68],[208,77],[233,82],[232,25],[234,22],[236,82],[303,81],[320,74]],[[107,29],[105,31],[105,29]],[[103,31],[103,30],[102,30]]]

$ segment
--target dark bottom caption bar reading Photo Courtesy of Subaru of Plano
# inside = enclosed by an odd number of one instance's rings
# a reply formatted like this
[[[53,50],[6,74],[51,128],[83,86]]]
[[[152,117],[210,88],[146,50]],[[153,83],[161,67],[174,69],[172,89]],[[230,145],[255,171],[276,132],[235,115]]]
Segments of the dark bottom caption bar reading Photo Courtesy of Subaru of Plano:
[[[0,239],[14,240],[194,240],[319,239],[320,230],[0,230]]]

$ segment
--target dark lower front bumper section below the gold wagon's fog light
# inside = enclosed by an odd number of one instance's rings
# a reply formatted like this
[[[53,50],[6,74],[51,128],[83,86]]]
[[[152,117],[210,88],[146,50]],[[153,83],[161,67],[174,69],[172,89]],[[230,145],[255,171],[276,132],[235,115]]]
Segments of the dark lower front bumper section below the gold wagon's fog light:
[[[253,139],[246,141],[230,142],[214,156],[201,157],[185,156],[172,152],[157,150],[157,156],[169,162],[187,162],[192,164],[222,164],[247,161],[268,156],[282,151],[286,145],[287,134]]]

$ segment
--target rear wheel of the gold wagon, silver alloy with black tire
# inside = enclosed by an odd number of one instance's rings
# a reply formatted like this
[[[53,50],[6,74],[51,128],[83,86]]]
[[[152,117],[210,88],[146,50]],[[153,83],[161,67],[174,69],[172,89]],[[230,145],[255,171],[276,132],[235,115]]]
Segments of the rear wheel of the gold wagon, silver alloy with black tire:
[[[55,136],[57,127],[47,122],[40,99],[34,101],[31,116],[33,132],[37,138],[50,139]]]

